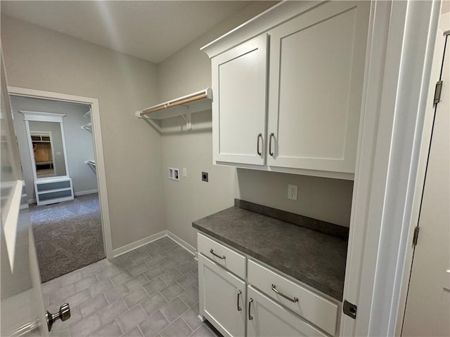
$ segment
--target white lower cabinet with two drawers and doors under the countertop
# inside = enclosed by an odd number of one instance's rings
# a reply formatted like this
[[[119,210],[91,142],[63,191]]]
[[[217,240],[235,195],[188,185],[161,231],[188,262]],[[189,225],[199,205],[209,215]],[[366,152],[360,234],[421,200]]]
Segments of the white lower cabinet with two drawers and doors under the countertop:
[[[338,336],[337,301],[203,234],[198,247],[199,313],[224,336]]]

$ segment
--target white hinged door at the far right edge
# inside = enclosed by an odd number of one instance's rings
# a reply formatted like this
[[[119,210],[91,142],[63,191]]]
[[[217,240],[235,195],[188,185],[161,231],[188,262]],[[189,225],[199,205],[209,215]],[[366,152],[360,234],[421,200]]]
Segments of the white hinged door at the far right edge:
[[[450,38],[442,67],[402,336],[450,336]]]

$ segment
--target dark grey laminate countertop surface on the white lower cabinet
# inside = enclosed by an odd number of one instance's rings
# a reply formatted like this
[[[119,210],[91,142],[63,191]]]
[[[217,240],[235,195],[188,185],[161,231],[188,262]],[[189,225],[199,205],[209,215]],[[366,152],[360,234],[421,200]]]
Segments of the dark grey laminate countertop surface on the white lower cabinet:
[[[192,225],[201,232],[342,301],[347,239],[237,206],[196,220]]]

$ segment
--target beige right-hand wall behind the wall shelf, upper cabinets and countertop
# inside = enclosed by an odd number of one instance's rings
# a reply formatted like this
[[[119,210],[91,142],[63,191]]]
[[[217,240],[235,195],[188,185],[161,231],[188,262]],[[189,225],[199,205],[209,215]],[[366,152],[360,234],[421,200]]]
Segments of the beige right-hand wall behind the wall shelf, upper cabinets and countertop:
[[[200,51],[200,47],[274,4],[272,1],[250,4],[161,62],[158,66],[160,101],[211,86],[210,59]],[[234,198],[349,226],[352,181],[214,166],[211,112],[192,116],[193,131],[162,136],[162,170],[169,231],[188,244],[197,246],[192,221],[232,206]],[[176,128],[180,130],[183,124],[181,118],[162,121],[162,126],[172,131]],[[169,180],[165,173],[168,167],[187,168],[187,178],[181,175],[180,182]],[[210,173],[209,183],[201,181],[201,171]],[[298,185],[297,201],[287,198],[288,184]]]

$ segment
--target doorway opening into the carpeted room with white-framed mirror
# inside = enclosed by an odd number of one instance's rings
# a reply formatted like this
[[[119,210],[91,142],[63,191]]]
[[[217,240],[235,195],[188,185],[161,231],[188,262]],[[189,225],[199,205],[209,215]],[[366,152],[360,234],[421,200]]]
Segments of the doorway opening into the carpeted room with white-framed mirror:
[[[23,88],[8,90],[41,281],[111,258],[98,101]],[[26,120],[24,112],[52,118],[59,114],[62,146],[55,136],[55,121]]]

